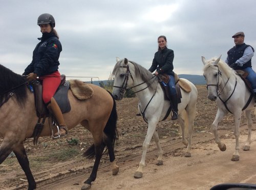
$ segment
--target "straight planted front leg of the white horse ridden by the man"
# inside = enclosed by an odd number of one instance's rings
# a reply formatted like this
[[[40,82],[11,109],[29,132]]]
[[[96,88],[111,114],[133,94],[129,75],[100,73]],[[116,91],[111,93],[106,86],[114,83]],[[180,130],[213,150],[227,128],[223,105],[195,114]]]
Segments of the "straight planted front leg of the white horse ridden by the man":
[[[239,155],[239,126],[241,121],[241,111],[238,111],[238,113],[234,114],[234,137],[236,138],[236,147],[234,150],[234,153],[232,155],[231,160],[232,161],[239,161],[240,155]]]

